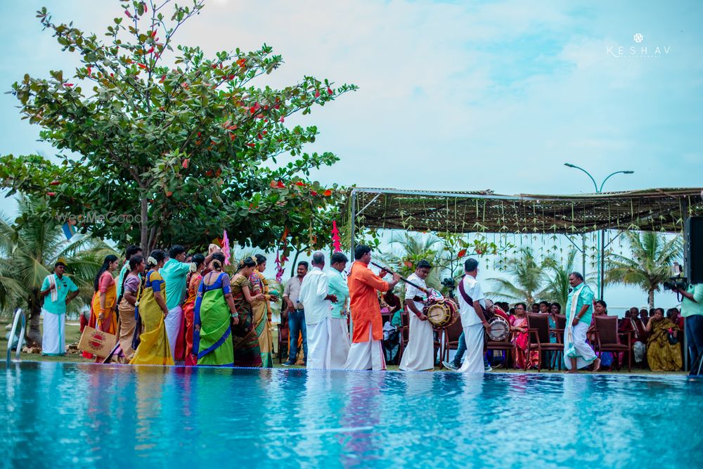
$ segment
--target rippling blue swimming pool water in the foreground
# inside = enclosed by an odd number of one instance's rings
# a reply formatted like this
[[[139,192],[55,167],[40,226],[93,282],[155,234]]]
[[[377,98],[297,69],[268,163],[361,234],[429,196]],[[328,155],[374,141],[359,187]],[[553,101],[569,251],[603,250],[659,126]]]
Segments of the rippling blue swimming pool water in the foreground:
[[[34,362],[0,389],[4,467],[703,467],[681,375]]]

